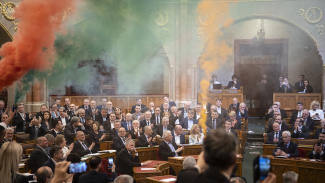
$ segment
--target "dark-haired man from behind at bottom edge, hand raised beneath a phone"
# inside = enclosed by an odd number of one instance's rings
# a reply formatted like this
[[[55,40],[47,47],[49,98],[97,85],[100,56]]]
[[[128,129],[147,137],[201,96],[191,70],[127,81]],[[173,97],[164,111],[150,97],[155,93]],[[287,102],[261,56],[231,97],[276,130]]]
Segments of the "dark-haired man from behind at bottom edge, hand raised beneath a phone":
[[[89,158],[90,171],[79,176],[79,183],[98,182],[106,183],[114,181],[117,176],[115,172],[115,165],[111,167],[111,178],[106,173],[98,172],[101,167],[101,158],[98,155]]]

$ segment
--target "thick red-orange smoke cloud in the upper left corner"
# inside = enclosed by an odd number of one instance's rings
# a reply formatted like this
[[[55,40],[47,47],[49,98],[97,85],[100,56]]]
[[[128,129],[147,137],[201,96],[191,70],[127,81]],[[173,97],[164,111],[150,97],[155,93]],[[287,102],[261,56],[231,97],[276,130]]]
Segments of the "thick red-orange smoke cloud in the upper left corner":
[[[55,32],[72,0],[22,0],[15,8],[17,33],[0,48],[0,90],[30,69],[44,70],[54,61]]]

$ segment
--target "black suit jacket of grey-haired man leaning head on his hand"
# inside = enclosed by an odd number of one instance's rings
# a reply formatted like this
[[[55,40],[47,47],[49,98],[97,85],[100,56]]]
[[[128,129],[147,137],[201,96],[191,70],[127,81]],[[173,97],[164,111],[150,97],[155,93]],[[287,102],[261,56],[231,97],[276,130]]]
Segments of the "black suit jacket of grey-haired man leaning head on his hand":
[[[126,148],[122,148],[116,155],[115,171],[116,173],[132,175],[133,166],[141,166],[138,161],[139,157],[137,155],[133,157]]]

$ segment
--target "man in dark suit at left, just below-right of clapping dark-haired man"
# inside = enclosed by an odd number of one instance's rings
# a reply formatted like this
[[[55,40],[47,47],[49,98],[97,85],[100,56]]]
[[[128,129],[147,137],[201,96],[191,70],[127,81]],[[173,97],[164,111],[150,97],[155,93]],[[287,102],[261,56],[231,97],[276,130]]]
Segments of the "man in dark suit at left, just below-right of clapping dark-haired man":
[[[29,125],[25,128],[25,133],[29,133],[29,139],[36,139],[39,136],[44,136],[46,133],[46,126],[40,124],[40,120],[33,118]]]

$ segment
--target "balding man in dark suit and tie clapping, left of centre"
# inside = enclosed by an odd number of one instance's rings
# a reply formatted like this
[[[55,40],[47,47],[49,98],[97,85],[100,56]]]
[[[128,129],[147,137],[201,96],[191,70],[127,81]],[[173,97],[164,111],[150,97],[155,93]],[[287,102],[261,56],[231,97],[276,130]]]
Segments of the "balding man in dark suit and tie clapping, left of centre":
[[[77,131],[76,132],[76,140],[74,141],[74,146],[71,152],[77,153],[80,155],[80,157],[90,154],[91,150],[95,146],[95,143],[92,142],[90,145],[85,140],[85,135],[83,131]]]

